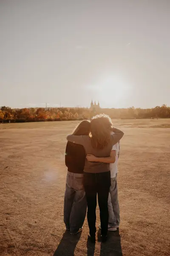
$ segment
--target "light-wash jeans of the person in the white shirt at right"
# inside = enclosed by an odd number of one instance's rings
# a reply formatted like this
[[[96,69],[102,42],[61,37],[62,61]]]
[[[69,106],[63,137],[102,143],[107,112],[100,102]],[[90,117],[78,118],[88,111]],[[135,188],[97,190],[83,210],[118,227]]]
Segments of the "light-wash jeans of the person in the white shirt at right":
[[[119,226],[120,224],[120,209],[116,178],[117,174],[116,177],[111,178],[110,193],[108,196],[109,225],[111,227]]]

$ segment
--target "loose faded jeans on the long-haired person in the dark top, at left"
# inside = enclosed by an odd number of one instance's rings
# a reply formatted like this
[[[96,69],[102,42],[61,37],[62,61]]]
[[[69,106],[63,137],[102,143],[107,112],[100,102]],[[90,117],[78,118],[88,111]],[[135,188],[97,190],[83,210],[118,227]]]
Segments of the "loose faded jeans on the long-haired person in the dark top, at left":
[[[64,197],[64,223],[71,234],[77,233],[85,221],[87,201],[83,174],[68,172]]]

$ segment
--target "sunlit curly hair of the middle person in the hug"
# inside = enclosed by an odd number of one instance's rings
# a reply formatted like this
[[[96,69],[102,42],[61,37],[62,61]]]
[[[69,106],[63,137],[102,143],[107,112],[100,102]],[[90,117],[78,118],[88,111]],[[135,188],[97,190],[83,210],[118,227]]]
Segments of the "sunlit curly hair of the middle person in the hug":
[[[93,148],[102,149],[111,140],[112,131],[111,118],[108,115],[100,114],[91,119],[91,145]]]

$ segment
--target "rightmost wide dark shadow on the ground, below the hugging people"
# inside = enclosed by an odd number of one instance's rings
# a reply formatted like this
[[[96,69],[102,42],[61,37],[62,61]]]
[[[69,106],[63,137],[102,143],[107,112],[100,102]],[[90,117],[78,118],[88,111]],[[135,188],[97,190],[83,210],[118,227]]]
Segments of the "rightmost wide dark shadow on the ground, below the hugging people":
[[[98,231],[98,241],[101,241],[101,230]],[[119,228],[117,231],[108,232],[108,240],[105,243],[101,242],[100,256],[122,256],[121,239]]]

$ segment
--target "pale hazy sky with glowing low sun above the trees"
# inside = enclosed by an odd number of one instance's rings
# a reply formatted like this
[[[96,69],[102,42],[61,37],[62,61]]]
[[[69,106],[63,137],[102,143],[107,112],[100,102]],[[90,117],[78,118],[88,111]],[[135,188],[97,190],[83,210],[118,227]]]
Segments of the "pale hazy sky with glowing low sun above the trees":
[[[170,105],[170,0],[0,0],[0,105]]]

